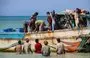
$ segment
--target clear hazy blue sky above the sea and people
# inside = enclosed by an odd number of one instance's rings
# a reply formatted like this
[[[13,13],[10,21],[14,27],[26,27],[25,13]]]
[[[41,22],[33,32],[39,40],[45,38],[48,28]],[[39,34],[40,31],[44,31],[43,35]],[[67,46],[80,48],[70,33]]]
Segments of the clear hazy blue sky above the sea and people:
[[[81,8],[90,10],[90,0],[0,0],[0,16],[39,16],[47,11]]]

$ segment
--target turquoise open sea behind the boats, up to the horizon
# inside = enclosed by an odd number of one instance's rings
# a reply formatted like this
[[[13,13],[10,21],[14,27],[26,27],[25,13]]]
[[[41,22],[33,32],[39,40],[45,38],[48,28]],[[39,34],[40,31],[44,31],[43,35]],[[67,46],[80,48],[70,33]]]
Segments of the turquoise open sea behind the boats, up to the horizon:
[[[38,16],[39,20],[46,21],[46,16]],[[0,31],[6,28],[23,28],[25,21],[29,21],[30,16],[0,16]]]

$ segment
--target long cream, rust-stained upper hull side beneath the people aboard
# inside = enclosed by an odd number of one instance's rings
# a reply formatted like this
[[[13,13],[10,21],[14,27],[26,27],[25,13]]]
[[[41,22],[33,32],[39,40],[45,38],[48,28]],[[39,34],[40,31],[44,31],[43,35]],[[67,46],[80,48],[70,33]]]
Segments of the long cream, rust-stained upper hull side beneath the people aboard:
[[[24,38],[29,38],[29,39],[45,39],[45,38],[69,38],[72,36],[78,37],[79,35],[85,35],[89,34],[90,30],[89,29],[83,29],[83,30],[56,30],[54,32],[47,31],[47,32],[36,32],[36,33],[26,33]]]

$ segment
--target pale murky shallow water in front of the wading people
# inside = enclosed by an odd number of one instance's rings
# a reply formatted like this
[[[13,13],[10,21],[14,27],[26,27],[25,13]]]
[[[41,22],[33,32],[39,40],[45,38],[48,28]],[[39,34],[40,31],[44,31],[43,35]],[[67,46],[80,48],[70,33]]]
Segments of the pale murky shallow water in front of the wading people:
[[[52,53],[49,57],[44,57],[41,54],[0,53],[0,58],[90,58],[90,53],[66,53],[63,55]]]

